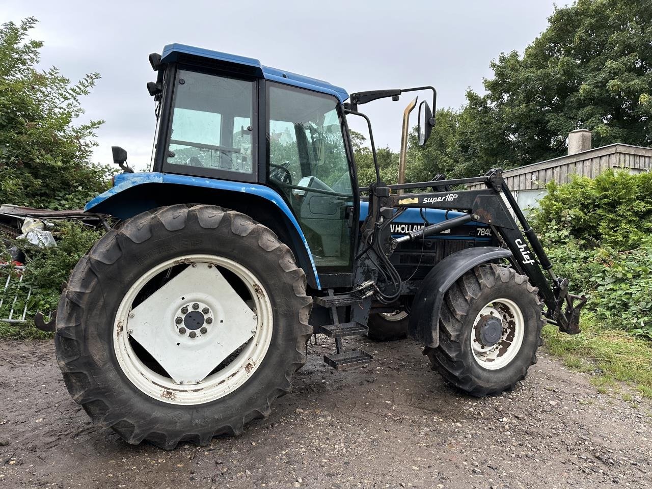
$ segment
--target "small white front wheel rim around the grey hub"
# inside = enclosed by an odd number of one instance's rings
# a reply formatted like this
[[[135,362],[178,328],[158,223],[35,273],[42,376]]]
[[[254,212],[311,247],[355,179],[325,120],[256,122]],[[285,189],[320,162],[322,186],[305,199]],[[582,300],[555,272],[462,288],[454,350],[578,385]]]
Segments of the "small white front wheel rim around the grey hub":
[[[484,346],[477,338],[477,327],[480,319],[486,314],[496,316],[503,323],[503,333],[494,346]],[[498,370],[511,363],[523,344],[525,321],[523,313],[510,299],[496,299],[486,304],[473,321],[473,329],[469,335],[473,359],[482,368]]]

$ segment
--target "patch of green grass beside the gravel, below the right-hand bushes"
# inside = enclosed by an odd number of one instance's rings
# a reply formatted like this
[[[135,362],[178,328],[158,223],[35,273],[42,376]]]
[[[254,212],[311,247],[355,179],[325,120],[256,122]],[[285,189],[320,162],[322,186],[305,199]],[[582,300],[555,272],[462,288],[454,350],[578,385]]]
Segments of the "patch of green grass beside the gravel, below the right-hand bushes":
[[[652,398],[652,342],[608,329],[590,313],[583,314],[580,327],[582,333],[571,336],[546,325],[542,336],[548,351],[569,368],[596,372],[591,383],[599,393],[618,390],[619,382],[624,382]]]

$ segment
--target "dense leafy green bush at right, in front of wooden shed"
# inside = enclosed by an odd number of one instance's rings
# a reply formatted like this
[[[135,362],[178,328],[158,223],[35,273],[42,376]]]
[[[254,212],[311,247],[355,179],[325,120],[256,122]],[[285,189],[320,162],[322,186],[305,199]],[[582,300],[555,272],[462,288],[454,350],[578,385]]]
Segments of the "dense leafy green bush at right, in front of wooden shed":
[[[596,319],[652,338],[652,175],[606,171],[548,192],[532,221],[557,274]]]

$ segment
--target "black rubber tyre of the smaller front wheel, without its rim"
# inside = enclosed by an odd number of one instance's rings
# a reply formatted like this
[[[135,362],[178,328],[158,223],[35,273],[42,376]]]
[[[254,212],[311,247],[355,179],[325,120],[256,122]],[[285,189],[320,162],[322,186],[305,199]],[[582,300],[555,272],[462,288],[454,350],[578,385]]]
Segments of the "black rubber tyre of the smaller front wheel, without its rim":
[[[526,377],[529,366],[537,363],[537,348],[542,344],[544,321],[537,291],[526,276],[504,266],[483,264],[464,274],[444,297],[439,319],[439,346],[424,350],[424,355],[432,362],[432,370],[477,397],[514,389],[516,383]],[[520,348],[511,361],[490,370],[474,358],[471,334],[474,334],[474,323],[483,307],[498,299],[518,306],[524,319],[524,331]]]

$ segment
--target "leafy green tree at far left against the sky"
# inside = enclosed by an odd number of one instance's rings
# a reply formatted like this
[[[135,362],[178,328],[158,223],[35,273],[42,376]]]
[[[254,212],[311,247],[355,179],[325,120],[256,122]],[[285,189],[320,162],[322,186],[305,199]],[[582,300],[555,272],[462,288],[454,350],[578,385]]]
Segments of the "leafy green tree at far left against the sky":
[[[89,162],[102,121],[74,125],[97,73],[70,83],[57,68],[38,70],[37,21],[0,27],[0,202],[52,209],[82,207],[106,190],[108,166]]]

